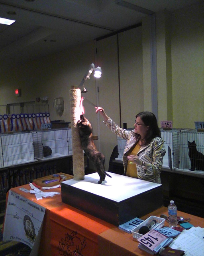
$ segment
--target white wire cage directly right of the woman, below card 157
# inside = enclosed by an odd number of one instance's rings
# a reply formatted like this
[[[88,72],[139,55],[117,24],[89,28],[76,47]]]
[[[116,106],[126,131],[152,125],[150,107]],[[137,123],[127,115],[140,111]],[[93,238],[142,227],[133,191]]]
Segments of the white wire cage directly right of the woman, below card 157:
[[[179,133],[181,130],[185,129],[174,128],[172,130],[164,130],[160,128],[161,138],[164,140],[166,150],[166,154],[163,157],[163,167],[179,167]],[[171,159],[170,164],[169,159]]]

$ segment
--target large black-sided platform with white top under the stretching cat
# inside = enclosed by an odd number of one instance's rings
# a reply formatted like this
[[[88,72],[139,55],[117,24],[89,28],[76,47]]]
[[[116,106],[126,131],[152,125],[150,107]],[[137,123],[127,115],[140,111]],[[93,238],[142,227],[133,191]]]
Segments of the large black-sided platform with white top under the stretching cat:
[[[109,172],[61,182],[62,202],[118,226],[163,206],[162,185]]]

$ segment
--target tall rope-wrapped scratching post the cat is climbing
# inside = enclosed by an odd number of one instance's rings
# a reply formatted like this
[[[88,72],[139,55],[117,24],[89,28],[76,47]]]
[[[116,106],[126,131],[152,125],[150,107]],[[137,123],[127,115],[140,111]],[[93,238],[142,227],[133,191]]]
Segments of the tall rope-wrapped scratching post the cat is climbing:
[[[80,100],[81,90],[71,89],[70,96],[70,114],[72,131],[72,154],[73,154],[73,172],[74,180],[84,179],[84,152],[81,146],[77,121],[80,120]]]

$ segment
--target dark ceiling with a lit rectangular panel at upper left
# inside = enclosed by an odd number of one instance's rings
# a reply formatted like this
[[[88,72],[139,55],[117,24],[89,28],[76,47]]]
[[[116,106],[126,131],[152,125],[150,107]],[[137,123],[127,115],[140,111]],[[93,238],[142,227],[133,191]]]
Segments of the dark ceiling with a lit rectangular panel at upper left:
[[[16,65],[61,52],[141,22],[165,8],[201,0],[0,0],[0,63]],[[15,12],[15,15],[7,12]]]

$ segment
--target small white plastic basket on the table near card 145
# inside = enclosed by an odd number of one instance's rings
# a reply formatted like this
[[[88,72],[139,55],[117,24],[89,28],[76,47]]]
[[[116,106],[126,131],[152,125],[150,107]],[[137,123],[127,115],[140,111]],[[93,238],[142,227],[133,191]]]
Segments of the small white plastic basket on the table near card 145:
[[[142,234],[139,234],[138,231],[141,227],[143,226],[148,226],[149,223],[152,220],[156,220],[157,224],[153,227],[153,229],[157,229],[157,228],[162,228],[164,226],[164,222],[165,219],[164,218],[160,218],[160,217],[156,217],[156,216],[150,216],[149,218],[147,218],[147,220],[143,221],[141,224],[139,224],[136,228],[133,228],[133,230],[131,230],[132,232],[132,236],[134,239],[138,239],[141,236],[143,236]]]

